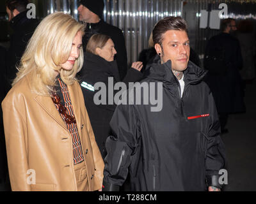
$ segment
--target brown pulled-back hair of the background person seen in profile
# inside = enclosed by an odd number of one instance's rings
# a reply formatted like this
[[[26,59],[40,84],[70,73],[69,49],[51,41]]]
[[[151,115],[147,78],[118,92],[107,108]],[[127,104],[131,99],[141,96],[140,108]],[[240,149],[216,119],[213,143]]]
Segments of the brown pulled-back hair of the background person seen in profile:
[[[92,52],[92,54],[98,55],[96,48],[102,49],[109,39],[110,37],[105,34],[93,34],[87,43],[86,52]]]

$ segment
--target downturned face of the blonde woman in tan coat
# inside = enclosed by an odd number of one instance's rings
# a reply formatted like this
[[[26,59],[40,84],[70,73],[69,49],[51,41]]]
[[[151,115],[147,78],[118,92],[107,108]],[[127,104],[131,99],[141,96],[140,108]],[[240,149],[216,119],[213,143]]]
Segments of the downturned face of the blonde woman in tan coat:
[[[68,60],[65,63],[61,64],[61,68],[67,71],[71,70],[76,62],[76,59],[79,57],[81,48],[82,48],[82,34],[81,34],[81,31],[79,31],[77,32],[73,40],[72,48],[71,48],[71,52],[68,57]]]

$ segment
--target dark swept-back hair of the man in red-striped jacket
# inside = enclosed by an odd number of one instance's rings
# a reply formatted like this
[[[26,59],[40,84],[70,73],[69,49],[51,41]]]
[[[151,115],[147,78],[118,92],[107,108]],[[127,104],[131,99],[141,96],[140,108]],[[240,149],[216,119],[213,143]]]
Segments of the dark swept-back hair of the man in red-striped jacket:
[[[163,34],[170,30],[186,31],[188,33],[188,24],[182,17],[165,17],[159,20],[153,29],[154,45],[156,43],[162,45]]]

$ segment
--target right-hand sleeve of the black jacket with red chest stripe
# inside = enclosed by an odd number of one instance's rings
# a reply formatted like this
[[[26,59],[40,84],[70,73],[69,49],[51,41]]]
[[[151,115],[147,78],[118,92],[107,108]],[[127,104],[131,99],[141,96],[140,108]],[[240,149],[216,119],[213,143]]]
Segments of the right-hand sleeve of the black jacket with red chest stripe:
[[[205,152],[205,176],[207,186],[221,188],[219,184],[219,171],[225,168],[225,146],[220,136],[220,121],[212,93],[209,93],[209,112],[211,124],[207,136],[207,145]]]

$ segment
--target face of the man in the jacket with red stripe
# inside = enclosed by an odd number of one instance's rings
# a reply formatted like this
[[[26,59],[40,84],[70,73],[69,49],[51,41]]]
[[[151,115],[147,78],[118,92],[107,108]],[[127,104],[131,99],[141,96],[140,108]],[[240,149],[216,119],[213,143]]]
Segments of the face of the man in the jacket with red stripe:
[[[189,39],[186,31],[166,31],[162,47],[155,45],[157,54],[161,53],[161,63],[172,61],[172,70],[184,71],[189,61]]]

